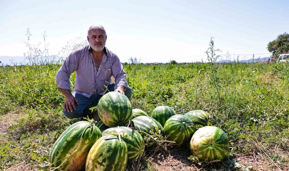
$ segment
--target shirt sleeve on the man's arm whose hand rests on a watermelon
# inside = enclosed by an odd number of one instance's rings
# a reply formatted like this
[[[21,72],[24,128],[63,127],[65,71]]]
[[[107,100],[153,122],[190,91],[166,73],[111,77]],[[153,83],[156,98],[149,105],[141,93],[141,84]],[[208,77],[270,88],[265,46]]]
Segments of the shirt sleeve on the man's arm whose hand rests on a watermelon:
[[[117,56],[112,63],[112,76],[115,78],[114,89],[117,89],[118,86],[127,87],[126,73],[123,70],[123,65]]]

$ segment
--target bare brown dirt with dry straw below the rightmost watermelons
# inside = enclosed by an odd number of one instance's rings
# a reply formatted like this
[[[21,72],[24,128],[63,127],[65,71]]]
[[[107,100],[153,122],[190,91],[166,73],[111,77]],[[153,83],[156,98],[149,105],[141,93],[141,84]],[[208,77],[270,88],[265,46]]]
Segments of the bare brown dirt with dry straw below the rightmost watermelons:
[[[199,166],[188,159],[191,155],[190,150],[186,147],[171,148],[168,150],[159,150],[152,157],[149,158],[151,164],[155,166],[158,171],[194,171],[194,170],[237,170],[234,166],[230,166],[229,162],[211,163],[208,165]],[[284,157],[289,157],[289,152],[283,152]],[[271,161],[268,157],[259,155],[234,156],[234,161],[240,163],[242,166],[252,166],[251,170],[288,170],[289,166],[282,163]],[[242,170],[242,169],[240,169]]]

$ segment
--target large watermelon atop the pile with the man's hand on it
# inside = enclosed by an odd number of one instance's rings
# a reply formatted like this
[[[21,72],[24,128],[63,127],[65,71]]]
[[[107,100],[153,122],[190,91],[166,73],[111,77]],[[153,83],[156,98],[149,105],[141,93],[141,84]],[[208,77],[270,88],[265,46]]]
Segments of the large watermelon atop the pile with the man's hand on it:
[[[126,125],[132,116],[128,98],[116,91],[106,93],[100,98],[97,111],[101,121],[108,127]]]

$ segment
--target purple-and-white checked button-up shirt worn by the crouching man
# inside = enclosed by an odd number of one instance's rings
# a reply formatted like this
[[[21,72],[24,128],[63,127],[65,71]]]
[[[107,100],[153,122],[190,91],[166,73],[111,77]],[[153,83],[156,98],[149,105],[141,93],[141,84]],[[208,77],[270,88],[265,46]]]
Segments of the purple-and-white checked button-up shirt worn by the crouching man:
[[[58,90],[70,90],[70,74],[76,72],[75,91],[88,98],[92,94],[103,95],[105,86],[110,84],[111,76],[115,78],[115,87],[127,87],[126,73],[123,70],[118,56],[106,47],[104,55],[97,70],[92,57],[90,46],[87,45],[81,49],[72,52],[64,61],[56,74],[56,83]],[[61,88],[61,89],[60,89]]]

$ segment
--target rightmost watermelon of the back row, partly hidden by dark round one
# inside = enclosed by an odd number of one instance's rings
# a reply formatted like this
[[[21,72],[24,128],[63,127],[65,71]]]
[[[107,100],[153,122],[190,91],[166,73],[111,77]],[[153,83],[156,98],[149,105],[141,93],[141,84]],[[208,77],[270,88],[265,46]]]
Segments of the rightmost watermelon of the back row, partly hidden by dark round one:
[[[202,110],[189,111],[185,115],[192,119],[192,122],[195,125],[207,126],[209,119],[212,119],[211,115],[208,112]]]

